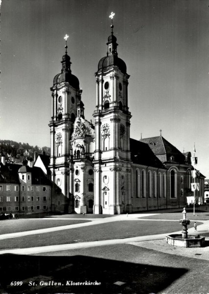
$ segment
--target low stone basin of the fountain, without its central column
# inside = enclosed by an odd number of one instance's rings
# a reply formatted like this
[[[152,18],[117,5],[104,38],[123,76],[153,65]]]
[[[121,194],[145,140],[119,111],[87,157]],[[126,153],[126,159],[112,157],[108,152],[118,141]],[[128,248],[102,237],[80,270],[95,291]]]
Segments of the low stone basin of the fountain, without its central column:
[[[172,234],[165,237],[167,244],[181,247],[202,247],[205,244],[205,237],[200,235],[189,235],[182,238],[181,234]]]

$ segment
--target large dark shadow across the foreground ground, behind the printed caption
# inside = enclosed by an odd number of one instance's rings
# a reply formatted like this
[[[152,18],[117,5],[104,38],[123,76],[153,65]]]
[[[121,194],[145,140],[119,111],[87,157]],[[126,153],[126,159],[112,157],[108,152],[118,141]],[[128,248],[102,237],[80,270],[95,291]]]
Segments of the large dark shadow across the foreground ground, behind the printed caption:
[[[158,267],[87,256],[0,256],[0,293],[158,293],[184,275],[183,268]],[[11,286],[22,281],[22,286]],[[46,285],[42,285],[47,283]],[[60,283],[59,285],[52,285]],[[68,282],[69,281],[69,282]],[[71,285],[95,282],[101,285]],[[116,282],[124,284],[115,285]],[[41,286],[40,286],[41,283]],[[29,286],[31,285],[31,286]]]

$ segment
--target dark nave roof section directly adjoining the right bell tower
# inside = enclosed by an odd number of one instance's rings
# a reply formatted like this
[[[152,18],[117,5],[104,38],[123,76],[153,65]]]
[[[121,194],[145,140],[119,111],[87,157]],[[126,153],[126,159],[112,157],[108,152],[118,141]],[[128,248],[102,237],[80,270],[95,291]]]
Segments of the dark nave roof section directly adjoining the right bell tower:
[[[155,156],[148,144],[130,139],[130,150],[133,163],[165,169],[162,162]]]

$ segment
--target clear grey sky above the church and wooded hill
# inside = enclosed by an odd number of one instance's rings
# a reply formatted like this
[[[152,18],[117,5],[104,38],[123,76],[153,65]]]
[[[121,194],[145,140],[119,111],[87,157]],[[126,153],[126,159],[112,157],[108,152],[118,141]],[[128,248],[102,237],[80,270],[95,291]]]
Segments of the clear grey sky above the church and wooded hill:
[[[85,118],[96,105],[94,73],[115,12],[127,65],[131,138],[160,135],[181,152],[195,143],[209,178],[209,0],[2,0],[0,139],[50,147],[53,78],[65,34]]]

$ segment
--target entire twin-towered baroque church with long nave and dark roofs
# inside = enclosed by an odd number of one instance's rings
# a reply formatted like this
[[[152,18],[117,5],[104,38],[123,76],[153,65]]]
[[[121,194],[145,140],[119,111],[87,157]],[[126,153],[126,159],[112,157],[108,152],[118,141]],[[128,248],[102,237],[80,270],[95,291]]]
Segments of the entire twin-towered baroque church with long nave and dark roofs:
[[[205,177],[194,173],[191,152],[180,152],[162,135],[130,138],[130,75],[118,57],[113,23],[111,29],[107,55],[95,72],[93,122],[85,118],[66,35],[61,73],[50,88],[51,211],[114,215],[204,202]],[[199,183],[195,193],[191,191],[194,180]]]

